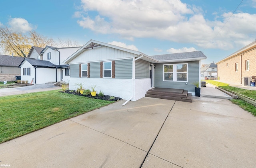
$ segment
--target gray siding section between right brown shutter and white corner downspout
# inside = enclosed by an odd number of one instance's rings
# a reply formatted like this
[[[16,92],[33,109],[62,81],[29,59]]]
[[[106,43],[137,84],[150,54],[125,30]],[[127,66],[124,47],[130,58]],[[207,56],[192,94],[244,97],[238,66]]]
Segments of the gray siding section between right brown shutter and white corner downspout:
[[[132,78],[132,59],[116,60],[115,78]]]

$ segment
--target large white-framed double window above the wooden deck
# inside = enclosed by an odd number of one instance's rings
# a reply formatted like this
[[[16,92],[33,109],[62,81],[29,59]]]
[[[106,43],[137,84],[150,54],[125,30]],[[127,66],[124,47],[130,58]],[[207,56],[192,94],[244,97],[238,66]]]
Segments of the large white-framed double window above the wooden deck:
[[[188,81],[188,64],[164,64],[164,81]]]

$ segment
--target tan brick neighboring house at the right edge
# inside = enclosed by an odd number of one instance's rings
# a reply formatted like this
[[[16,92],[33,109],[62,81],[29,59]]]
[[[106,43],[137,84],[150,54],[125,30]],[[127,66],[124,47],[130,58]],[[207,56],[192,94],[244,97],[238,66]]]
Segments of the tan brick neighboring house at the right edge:
[[[256,41],[220,60],[217,64],[221,81],[242,84],[244,77],[256,76]]]

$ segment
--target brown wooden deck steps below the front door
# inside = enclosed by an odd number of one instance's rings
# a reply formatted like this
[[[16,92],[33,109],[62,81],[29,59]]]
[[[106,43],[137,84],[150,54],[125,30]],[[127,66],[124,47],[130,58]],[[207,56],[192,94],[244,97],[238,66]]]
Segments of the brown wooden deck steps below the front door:
[[[192,95],[184,89],[152,88],[148,90],[145,96],[151,98],[178,100],[182,102],[192,102]]]

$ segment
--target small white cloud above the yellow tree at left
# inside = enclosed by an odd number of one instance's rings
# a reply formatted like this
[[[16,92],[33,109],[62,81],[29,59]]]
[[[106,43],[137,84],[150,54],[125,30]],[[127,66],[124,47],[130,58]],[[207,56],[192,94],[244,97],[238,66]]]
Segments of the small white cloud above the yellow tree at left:
[[[12,29],[12,31],[19,31],[22,33],[32,31],[36,28],[32,24],[28,23],[28,21],[24,18],[11,18],[8,21],[8,25],[10,25],[10,29]]]

